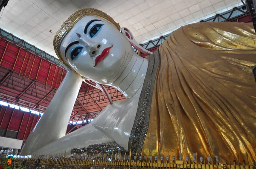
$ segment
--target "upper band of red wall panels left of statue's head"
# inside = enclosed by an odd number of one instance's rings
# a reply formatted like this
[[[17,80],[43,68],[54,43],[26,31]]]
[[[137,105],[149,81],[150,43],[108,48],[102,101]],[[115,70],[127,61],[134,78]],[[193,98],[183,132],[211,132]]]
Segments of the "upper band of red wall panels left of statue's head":
[[[66,70],[60,66],[26,52],[3,39],[0,40],[0,65],[29,79],[58,88]]]

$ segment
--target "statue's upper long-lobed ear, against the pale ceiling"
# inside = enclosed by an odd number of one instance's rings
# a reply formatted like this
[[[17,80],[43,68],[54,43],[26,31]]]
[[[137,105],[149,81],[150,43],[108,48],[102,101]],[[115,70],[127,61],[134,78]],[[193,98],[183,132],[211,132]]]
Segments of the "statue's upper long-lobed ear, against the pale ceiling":
[[[143,48],[135,39],[131,31],[129,31],[128,28],[122,27],[121,28],[122,34],[128,39],[128,41],[131,43],[131,45],[141,51],[143,54],[153,54],[151,51],[146,50]]]

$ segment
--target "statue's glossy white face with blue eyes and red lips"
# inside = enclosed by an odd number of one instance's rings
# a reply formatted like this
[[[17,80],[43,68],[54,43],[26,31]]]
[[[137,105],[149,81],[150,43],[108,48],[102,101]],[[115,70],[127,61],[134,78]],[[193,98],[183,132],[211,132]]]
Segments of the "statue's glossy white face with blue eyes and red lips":
[[[108,21],[86,16],[61,43],[61,55],[82,76],[102,84],[114,82],[134,53],[129,41]]]

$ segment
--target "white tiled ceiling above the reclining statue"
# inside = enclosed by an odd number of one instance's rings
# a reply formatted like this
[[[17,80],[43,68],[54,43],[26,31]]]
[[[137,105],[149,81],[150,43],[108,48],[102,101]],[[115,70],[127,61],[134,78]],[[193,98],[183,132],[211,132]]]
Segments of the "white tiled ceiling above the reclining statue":
[[[10,0],[0,28],[56,56],[52,39],[79,7],[107,12],[144,43],[239,5],[240,0]]]

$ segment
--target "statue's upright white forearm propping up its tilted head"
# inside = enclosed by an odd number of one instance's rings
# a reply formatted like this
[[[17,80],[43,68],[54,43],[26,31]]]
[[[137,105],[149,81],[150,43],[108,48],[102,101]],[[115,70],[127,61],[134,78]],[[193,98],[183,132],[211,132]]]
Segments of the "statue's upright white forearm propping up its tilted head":
[[[67,74],[52,101],[29,134],[21,154],[27,155],[66,134],[67,124],[75,104],[82,78],[72,70]]]

